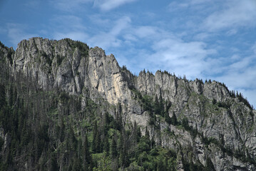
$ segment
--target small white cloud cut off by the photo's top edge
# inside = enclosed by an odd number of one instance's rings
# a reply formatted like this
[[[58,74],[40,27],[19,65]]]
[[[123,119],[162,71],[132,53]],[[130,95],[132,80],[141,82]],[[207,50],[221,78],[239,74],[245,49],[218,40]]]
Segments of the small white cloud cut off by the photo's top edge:
[[[102,11],[110,11],[116,9],[118,6],[131,3],[136,0],[95,0],[94,5],[100,8]]]

